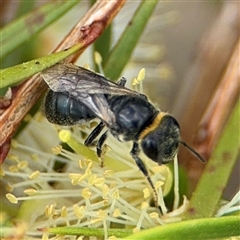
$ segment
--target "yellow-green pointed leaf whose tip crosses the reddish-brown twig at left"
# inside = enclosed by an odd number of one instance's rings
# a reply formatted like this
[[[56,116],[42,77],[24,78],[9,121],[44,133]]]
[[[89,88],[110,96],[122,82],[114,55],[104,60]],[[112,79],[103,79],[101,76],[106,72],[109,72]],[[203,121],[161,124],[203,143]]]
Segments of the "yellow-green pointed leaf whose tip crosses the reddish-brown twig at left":
[[[81,46],[81,44],[76,44],[61,52],[53,53],[51,55],[0,70],[0,88],[19,83],[24,79],[51,67],[52,65],[79,51]]]

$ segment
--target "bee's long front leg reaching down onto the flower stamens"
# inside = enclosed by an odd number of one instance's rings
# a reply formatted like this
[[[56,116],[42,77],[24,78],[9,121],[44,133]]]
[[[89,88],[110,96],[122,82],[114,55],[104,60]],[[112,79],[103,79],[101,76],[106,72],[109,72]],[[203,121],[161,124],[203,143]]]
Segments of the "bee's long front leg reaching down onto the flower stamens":
[[[159,211],[161,214],[163,214],[162,212],[162,208],[161,206],[158,205],[158,194],[157,194],[157,190],[153,185],[153,182],[148,174],[148,170],[145,167],[143,161],[138,157],[140,153],[140,149],[139,149],[139,144],[137,142],[133,142],[133,147],[132,150],[130,152],[132,158],[135,160],[137,166],[139,167],[140,171],[144,174],[144,176],[146,177],[146,179],[148,180],[152,190],[153,190],[153,198],[154,198],[154,202],[155,202],[155,206],[158,207]]]

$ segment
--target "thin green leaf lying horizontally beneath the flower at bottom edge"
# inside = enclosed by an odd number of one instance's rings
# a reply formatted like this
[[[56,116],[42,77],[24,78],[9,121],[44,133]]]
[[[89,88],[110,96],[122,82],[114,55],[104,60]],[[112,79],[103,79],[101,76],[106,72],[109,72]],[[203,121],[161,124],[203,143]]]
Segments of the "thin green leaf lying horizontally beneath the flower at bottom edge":
[[[104,237],[103,228],[80,228],[80,227],[56,227],[56,228],[47,228],[43,231],[48,233],[54,233],[59,235],[80,235],[80,236],[96,236]],[[108,229],[108,236],[115,236],[118,238],[123,238],[132,233],[132,230],[129,229]]]

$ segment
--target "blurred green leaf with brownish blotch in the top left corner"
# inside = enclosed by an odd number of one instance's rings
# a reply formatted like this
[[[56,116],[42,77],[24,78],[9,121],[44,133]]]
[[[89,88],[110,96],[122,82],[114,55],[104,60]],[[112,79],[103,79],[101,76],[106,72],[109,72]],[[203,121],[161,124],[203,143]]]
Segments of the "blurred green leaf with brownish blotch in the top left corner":
[[[6,25],[0,30],[0,58],[57,20],[78,2],[52,1]]]

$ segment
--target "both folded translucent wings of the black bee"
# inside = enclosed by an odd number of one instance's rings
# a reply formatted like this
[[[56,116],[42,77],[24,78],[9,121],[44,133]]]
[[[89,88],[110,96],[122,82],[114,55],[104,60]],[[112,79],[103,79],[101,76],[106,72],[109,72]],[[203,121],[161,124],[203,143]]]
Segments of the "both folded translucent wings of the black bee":
[[[86,105],[107,126],[115,122],[104,94],[139,93],[117,85],[105,77],[73,64],[56,64],[42,72],[43,79],[54,92],[64,92]]]

